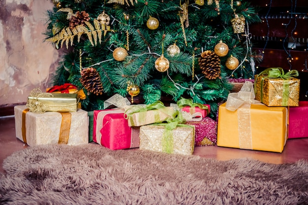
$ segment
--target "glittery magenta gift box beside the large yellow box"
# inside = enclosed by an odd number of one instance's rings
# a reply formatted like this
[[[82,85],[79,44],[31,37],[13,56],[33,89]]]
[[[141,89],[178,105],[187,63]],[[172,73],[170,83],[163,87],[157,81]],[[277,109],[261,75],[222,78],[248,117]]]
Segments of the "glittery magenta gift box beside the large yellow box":
[[[195,146],[216,145],[217,143],[217,122],[205,117],[200,121],[189,121],[186,124],[195,126]]]

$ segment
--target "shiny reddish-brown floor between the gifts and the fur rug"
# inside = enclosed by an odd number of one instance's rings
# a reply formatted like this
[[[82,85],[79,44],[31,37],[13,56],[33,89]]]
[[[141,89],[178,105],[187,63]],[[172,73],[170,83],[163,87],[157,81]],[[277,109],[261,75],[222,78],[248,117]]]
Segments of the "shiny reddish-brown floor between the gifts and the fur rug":
[[[14,117],[1,117],[0,130],[0,173],[3,173],[3,159],[14,151],[27,148],[27,145],[15,137]],[[193,154],[205,158],[216,158],[218,160],[249,157],[268,163],[282,164],[295,162],[299,159],[308,160],[308,138],[289,139],[282,153],[218,146],[197,146]]]

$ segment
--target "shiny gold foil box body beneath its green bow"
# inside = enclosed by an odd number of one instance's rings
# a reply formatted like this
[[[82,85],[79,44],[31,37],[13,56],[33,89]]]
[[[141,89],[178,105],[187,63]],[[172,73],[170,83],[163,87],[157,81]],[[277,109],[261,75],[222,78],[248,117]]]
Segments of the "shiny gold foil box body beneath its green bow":
[[[259,75],[255,81],[256,100],[267,106],[298,106],[299,79],[268,78],[267,75]]]

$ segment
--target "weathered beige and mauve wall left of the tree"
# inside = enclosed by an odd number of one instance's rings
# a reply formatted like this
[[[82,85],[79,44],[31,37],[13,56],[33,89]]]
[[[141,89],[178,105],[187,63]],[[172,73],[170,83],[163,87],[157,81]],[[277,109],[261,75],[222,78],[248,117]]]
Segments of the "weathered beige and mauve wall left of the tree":
[[[24,103],[50,86],[59,52],[42,34],[51,0],[0,0],[0,106]]]

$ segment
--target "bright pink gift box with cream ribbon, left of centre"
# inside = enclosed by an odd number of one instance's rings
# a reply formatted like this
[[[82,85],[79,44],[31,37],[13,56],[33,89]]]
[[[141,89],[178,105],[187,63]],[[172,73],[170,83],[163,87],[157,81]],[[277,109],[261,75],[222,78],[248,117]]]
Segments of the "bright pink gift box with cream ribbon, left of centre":
[[[112,150],[139,147],[139,127],[128,126],[124,110],[94,110],[93,141]]]

